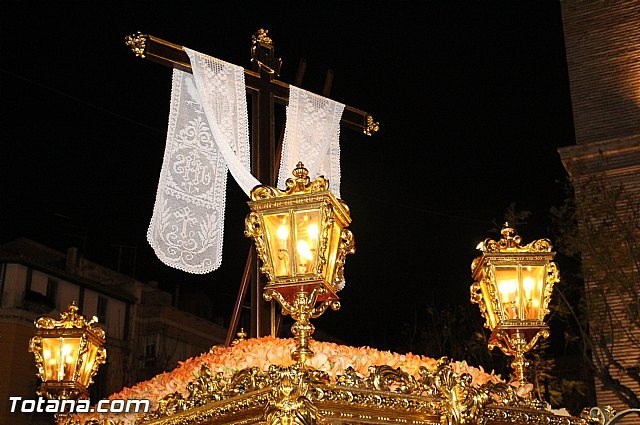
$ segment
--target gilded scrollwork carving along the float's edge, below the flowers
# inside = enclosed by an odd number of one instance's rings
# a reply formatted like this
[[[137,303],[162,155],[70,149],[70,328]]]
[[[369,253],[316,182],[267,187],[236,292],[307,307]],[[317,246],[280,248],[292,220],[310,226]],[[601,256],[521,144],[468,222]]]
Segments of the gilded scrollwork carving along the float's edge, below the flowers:
[[[586,424],[584,419],[554,416],[540,402],[518,396],[509,384],[472,385],[471,376],[456,373],[447,358],[438,360],[434,369],[422,367],[418,378],[399,368],[379,365],[370,367],[367,376],[348,367],[333,381],[326,372],[300,363],[288,367],[271,365],[266,372],[248,368],[231,377],[202,366],[187,390],[187,397],[177,392],[167,395],[155,412],[136,424],[221,424],[226,416],[233,416],[233,423],[245,425],[318,425],[334,421]],[[243,416],[243,411],[253,413]],[[66,424],[80,425],[78,421]],[[87,421],[82,425],[117,425],[117,421]]]

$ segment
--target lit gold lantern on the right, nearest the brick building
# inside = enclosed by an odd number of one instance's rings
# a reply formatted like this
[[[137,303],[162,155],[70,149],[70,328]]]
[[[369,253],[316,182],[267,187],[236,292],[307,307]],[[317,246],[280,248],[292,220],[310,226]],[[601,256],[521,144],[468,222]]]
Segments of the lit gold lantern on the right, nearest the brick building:
[[[482,255],[473,260],[471,302],[478,304],[491,330],[489,349],[500,348],[514,356],[513,379],[526,383],[524,354],[539,338],[549,336],[544,319],[553,285],[559,281],[558,268],[551,261],[555,252],[549,240],[520,245],[520,236],[505,223],[502,239],[486,239],[478,244]]]

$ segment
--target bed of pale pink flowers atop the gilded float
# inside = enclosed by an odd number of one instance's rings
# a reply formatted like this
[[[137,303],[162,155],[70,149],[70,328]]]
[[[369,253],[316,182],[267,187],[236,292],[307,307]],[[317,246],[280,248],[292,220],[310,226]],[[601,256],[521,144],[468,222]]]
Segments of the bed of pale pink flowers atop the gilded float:
[[[221,372],[225,377],[231,377],[235,372],[249,367],[257,366],[266,371],[270,365],[289,366],[293,364],[291,352],[294,348],[295,341],[293,339],[272,337],[248,339],[233,347],[214,347],[206,354],[180,362],[178,367],[171,372],[162,373],[131,388],[125,388],[112,394],[109,399],[147,399],[151,401],[151,410],[155,410],[158,406],[158,400],[168,394],[178,392],[187,397],[187,384],[198,377],[203,365],[206,365],[212,373]],[[420,367],[434,369],[437,363],[436,359],[411,353],[397,354],[369,347],[357,348],[330,342],[311,341],[311,349],[315,355],[308,362],[308,366],[326,372],[332,380],[343,374],[348,367],[352,367],[356,373],[366,377],[369,375],[369,367],[378,365],[400,368],[403,372],[419,378]],[[458,375],[463,373],[471,375],[473,385],[503,382],[500,376],[486,373],[482,367],[470,366],[465,361],[452,362],[452,368]],[[75,420],[84,424],[91,419],[102,421],[110,418],[120,421],[123,425],[129,425],[133,424],[139,415],[119,414],[116,418],[91,413],[76,415]]]

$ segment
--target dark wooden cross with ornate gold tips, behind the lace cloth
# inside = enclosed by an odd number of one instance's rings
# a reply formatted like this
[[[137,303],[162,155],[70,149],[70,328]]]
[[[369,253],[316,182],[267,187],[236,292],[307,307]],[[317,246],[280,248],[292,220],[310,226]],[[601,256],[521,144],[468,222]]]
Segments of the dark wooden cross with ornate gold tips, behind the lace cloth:
[[[251,102],[251,173],[262,183],[276,185],[278,176],[278,158],[281,143],[276,143],[274,136],[274,104],[286,105],[289,102],[289,84],[275,79],[280,75],[282,61],[275,57],[273,42],[264,29],[252,36],[251,48],[252,70],[244,70],[247,93],[252,96]],[[133,53],[144,59],[161,65],[192,72],[191,63],[183,47],[158,37],[137,33],[127,36],[125,43]],[[299,82],[298,82],[299,84]],[[327,95],[325,93],[325,95]],[[378,131],[378,123],[373,117],[360,109],[345,106],[340,122],[346,128],[360,131],[367,136]],[[257,255],[253,244],[245,264],[242,282],[236,304],[234,306],[226,345],[231,343],[238,327],[240,311],[251,282],[251,337],[271,334],[276,336],[275,305],[272,302],[270,311],[262,300],[264,279],[260,273]]]

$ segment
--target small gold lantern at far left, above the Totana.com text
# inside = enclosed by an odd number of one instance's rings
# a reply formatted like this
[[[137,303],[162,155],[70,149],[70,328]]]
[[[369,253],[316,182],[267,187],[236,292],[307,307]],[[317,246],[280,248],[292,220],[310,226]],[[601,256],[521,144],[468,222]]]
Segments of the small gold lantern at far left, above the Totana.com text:
[[[60,314],[60,320],[40,317],[29,351],[35,356],[42,385],[38,394],[52,399],[87,397],[87,388],[98,367],[105,362],[105,333],[77,314],[75,302]]]

